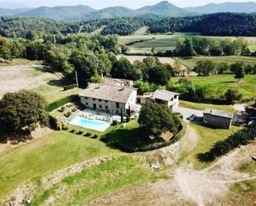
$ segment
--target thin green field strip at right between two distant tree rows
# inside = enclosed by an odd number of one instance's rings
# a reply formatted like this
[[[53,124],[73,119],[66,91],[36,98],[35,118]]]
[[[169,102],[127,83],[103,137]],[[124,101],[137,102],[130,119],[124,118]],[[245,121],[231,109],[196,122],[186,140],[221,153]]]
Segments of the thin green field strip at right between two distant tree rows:
[[[194,69],[198,60],[213,60],[215,63],[226,62],[229,65],[243,62],[244,64],[256,65],[256,57],[252,56],[195,56],[191,58],[175,57],[182,65]]]

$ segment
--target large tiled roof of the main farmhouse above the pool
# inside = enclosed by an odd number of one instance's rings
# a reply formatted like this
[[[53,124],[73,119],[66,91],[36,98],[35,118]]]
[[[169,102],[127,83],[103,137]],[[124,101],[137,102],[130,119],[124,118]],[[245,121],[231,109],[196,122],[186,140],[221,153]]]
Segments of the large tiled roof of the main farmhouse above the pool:
[[[97,98],[117,103],[127,103],[133,93],[131,87],[118,87],[109,84],[89,84],[80,96],[87,98]]]

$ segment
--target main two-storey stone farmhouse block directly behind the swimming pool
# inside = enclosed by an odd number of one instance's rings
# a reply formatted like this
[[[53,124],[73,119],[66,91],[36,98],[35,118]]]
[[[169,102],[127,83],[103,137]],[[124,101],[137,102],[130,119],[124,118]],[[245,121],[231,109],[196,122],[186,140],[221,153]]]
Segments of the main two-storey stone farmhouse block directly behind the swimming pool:
[[[113,84],[89,84],[82,93],[80,101],[86,108],[103,110],[109,113],[138,113],[136,105],[137,89]]]

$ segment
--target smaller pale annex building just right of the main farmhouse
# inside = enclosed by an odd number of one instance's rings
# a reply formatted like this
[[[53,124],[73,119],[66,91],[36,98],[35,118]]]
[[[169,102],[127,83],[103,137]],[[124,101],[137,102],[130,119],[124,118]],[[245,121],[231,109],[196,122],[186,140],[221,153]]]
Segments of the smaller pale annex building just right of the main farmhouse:
[[[173,93],[167,90],[156,90],[155,92],[138,96],[137,102],[141,104],[154,102],[163,103],[168,108],[177,108],[179,106],[179,93]]]

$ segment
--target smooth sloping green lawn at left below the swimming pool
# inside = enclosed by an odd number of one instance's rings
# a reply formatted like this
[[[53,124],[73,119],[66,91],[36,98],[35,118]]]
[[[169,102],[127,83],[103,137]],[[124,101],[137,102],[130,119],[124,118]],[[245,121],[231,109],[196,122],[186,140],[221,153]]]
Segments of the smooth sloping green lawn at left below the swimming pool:
[[[0,198],[29,180],[96,156],[118,155],[99,140],[50,132],[0,156]]]

